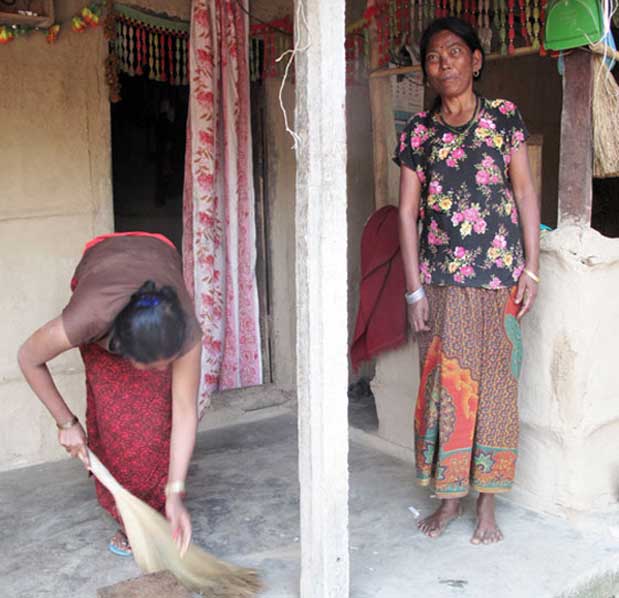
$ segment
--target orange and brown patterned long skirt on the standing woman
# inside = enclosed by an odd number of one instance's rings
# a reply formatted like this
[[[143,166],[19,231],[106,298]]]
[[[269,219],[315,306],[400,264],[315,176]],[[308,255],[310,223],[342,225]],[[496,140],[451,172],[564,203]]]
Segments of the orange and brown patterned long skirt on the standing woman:
[[[419,335],[417,479],[440,498],[511,489],[518,453],[522,340],[513,289],[428,286]]]

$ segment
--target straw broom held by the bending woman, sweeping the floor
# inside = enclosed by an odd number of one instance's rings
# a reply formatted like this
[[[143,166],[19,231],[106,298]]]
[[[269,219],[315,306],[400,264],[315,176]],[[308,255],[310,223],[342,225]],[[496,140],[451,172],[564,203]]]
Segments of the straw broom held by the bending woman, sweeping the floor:
[[[188,590],[208,598],[251,598],[260,590],[257,573],[215,558],[191,544],[181,558],[169,522],[125,490],[89,451],[90,470],[112,493],[125,526],[133,556],[145,573],[168,570]]]

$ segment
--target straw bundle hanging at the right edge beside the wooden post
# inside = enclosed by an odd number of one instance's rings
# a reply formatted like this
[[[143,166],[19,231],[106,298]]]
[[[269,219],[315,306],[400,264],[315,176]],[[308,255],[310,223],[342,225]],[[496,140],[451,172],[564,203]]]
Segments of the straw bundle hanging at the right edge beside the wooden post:
[[[610,49],[609,49],[610,50]],[[593,58],[593,176],[619,176],[619,86],[604,58]]]

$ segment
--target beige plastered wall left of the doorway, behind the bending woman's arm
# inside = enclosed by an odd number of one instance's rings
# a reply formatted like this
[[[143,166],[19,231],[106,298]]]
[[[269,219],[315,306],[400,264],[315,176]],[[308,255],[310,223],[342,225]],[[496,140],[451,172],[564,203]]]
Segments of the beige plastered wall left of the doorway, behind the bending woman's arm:
[[[60,7],[60,17],[73,5]],[[57,316],[84,243],[112,230],[110,123],[102,30],[64,32],[50,48],[33,34],[0,60],[0,470],[58,459],[53,419],[23,381],[19,345]],[[77,351],[51,364],[83,417]]]

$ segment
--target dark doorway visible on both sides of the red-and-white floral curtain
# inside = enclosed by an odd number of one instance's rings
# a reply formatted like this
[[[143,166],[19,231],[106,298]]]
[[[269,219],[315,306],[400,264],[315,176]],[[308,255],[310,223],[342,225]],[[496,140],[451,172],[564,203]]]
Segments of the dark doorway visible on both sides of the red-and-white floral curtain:
[[[189,86],[124,73],[120,74],[120,83],[122,100],[111,107],[114,230],[161,233],[182,252]],[[264,93],[259,83],[252,85],[251,93],[262,379],[270,383],[273,378]]]

